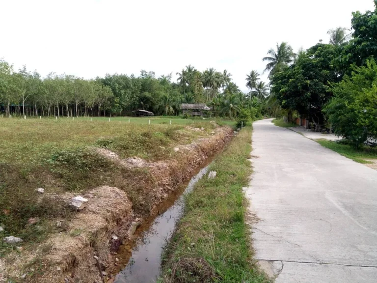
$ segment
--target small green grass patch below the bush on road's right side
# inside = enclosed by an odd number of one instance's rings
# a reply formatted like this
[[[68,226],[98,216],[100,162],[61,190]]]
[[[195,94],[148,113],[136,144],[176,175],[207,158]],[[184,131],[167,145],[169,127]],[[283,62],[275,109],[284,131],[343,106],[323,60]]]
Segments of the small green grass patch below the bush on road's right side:
[[[348,144],[341,144],[338,142],[332,142],[327,140],[315,140],[324,147],[327,147],[333,151],[338,152],[339,154],[352,159],[353,161],[359,163],[372,163],[365,159],[377,159],[377,148],[362,146],[359,149],[354,149]]]

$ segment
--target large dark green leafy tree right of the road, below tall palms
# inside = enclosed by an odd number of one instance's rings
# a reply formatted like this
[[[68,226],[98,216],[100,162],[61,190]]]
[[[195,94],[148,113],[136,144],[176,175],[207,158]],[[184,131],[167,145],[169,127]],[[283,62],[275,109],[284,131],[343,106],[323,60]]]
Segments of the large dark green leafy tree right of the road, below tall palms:
[[[330,85],[341,80],[341,74],[332,65],[339,53],[338,46],[317,44],[296,64],[276,73],[271,78],[271,90],[281,106],[322,123],[321,111],[332,97]]]

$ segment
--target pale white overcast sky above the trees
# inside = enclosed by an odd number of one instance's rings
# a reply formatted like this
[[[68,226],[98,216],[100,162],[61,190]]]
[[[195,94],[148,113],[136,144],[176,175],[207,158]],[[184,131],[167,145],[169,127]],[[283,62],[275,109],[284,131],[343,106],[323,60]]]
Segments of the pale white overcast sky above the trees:
[[[86,79],[145,69],[175,80],[188,64],[214,67],[246,91],[246,73],[263,72],[276,42],[295,51],[328,42],[352,11],[373,9],[373,0],[0,0],[0,57]]]

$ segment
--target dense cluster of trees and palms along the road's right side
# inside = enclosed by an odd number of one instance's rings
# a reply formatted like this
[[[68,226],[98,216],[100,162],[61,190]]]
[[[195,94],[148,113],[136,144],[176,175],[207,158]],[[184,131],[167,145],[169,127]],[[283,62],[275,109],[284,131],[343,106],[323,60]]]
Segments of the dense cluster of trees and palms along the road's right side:
[[[355,147],[377,137],[376,9],[352,13],[351,29],[328,30],[322,40],[294,53],[283,42],[269,50],[270,107],[332,129]]]

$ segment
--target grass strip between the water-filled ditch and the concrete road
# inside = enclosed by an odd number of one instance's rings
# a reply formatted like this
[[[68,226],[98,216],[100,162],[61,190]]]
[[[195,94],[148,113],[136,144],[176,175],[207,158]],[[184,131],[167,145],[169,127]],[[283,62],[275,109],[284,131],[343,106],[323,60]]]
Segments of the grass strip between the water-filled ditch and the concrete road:
[[[162,283],[268,280],[252,260],[247,202],[242,186],[251,174],[252,128],[244,128],[210,166],[215,179],[201,179],[187,196],[184,216],[164,252]]]

